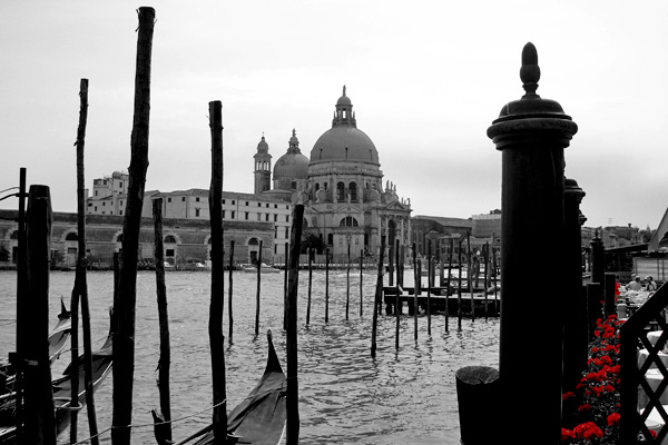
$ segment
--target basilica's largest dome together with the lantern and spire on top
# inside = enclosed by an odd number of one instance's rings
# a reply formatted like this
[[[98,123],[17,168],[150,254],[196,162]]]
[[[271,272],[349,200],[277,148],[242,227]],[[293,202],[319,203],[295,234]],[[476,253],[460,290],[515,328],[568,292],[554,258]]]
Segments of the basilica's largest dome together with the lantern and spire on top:
[[[332,128],[317,139],[311,150],[311,164],[333,160],[380,165],[379,151],[373,141],[364,131],[357,129],[357,120],[351,99],[345,93],[345,86],[343,96],[336,101]]]

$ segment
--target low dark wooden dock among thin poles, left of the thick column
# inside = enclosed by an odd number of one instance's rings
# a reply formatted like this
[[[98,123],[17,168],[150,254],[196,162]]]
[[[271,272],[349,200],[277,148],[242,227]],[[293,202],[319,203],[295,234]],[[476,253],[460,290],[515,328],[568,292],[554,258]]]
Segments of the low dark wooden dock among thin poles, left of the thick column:
[[[448,305],[448,313],[451,316],[456,316],[459,309],[459,297],[454,289],[451,287],[448,291],[446,287],[432,287],[430,288],[431,296],[429,301],[431,303],[431,314],[444,314],[445,305]],[[404,287],[403,293],[399,296],[400,314],[403,312],[403,305],[405,304],[409,310],[409,315],[414,314],[415,306],[415,289],[413,287]],[[478,288],[473,289],[473,309],[475,317],[497,317],[499,316],[501,298],[498,295],[494,299],[494,294],[485,294],[485,289]],[[396,287],[383,287],[383,303],[385,304],[385,315],[395,314],[394,306],[396,304]],[[420,313],[426,313],[428,297],[426,288],[423,288],[421,294],[418,295],[418,307]],[[471,294],[462,293],[461,297],[461,310],[464,315],[471,315]]]

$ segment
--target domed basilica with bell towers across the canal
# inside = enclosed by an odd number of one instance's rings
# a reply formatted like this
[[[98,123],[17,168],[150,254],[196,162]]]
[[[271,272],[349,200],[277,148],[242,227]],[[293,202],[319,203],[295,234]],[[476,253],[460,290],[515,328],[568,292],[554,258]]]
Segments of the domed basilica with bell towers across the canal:
[[[381,236],[389,243],[392,229],[402,245],[410,244],[411,200],[400,199],[390,181],[383,188],[379,151],[357,128],[345,87],[332,128],[317,139],[310,158],[293,129],[272,181],[268,149],[263,136],[254,156],[255,194],[304,204],[304,235],[318,237],[333,255],[346,254],[348,243],[353,256],[361,250],[376,255]]]

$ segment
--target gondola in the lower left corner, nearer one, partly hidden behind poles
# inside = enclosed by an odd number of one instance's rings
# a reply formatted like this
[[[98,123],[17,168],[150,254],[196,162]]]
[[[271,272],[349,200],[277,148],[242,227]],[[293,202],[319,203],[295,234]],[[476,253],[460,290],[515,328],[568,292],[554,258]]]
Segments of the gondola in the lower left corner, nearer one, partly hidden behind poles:
[[[102,380],[111,372],[112,365],[112,344],[111,334],[108,335],[107,340],[102,347],[95,350],[91,354],[92,360],[92,388],[95,389],[102,383]],[[56,429],[57,434],[62,433],[70,423],[70,406],[71,406],[71,379],[76,376],[79,379],[79,396],[78,405],[86,405],[86,386],[85,386],[85,370],[84,370],[85,358],[80,355],[75,366],[72,363],[62,373],[63,376],[52,382],[53,388],[53,405],[56,408]],[[4,404],[7,412],[12,412],[12,405],[16,404],[14,393],[8,393],[0,396],[0,403]],[[0,421],[0,444],[14,444],[17,443],[17,427],[16,418],[3,417]]]

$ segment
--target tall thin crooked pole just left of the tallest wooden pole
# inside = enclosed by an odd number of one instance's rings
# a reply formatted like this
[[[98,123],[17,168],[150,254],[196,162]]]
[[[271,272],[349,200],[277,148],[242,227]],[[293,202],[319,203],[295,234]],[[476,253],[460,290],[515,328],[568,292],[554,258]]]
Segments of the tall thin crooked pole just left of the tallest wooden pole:
[[[86,278],[86,176],[84,162],[84,148],[86,140],[86,122],[88,120],[88,79],[81,79],[79,88],[79,98],[81,101],[79,110],[79,127],[77,129],[77,235],[78,235],[78,255],[77,269],[75,277],[76,294],[81,301],[81,329],[84,333],[84,385],[86,388],[86,412],[88,413],[88,425],[90,432],[90,443],[99,444],[97,418],[95,413],[95,397],[92,388],[92,342],[90,338],[90,307],[88,305],[88,284]],[[73,304],[72,304],[73,305]],[[72,320],[71,333],[78,329],[75,320]],[[77,394],[79,392],[78,384]],[[75,383],[72,379],[72,406],[75,403]],[[78,400],[78,397],[77,397]],[[76,409],[71,413],[71,425],[75,425],[73,436],[70,433],[70,441],[76,442],[77,434],[77,416]]]

